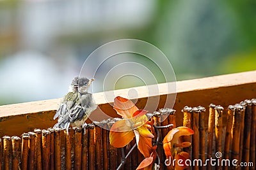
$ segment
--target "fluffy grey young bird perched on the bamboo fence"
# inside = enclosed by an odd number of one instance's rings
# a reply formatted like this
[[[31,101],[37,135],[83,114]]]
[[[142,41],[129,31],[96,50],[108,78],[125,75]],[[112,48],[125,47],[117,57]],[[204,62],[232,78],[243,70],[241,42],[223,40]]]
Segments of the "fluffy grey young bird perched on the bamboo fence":
[[[97,108],[93,101],[92,94],[88,92],[92,81],[88,78],[75,77],[69,87],[68,93],[63,97],[60,108],[54,115],[54,120],[58,117],[58,123],[54,129],[67,129],[72,127],[82,127],[90,113]]]

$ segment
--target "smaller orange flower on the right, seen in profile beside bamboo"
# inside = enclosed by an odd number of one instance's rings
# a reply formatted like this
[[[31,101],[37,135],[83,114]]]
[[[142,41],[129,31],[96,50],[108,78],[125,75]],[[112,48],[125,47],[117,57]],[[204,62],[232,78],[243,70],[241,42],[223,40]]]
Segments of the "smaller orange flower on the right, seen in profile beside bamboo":
[[[175,158],[176,160],[182,159],[183,163],[186,159],[189,159],[189,153],[182,152],[182,148],[188,147],[191,145],[188,141],[180,141],[180,136],[189,136],[194,134],[192,129],[188,127],[177,127],[168,132],[168,134],[163,139],[163,148],[164,153],[167,159]],[[179,166],[175,162],[175,169],[185,169],[186,166]]]

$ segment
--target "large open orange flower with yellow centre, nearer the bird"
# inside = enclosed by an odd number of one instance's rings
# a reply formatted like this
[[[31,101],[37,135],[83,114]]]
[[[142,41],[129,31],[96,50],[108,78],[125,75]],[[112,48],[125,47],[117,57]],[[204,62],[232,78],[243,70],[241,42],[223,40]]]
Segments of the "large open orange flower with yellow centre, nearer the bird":
[[[144,157],[150,157],[152,153],[152,138],[154,135],[148,131],[151,125],[147,124],[147,111],[139,110],[132,101],[123,97],[115,97],[114,109],[124,119],[115,122],[109,133],[110,144],[116,148],[122,148],[136,137],[138,149]]]

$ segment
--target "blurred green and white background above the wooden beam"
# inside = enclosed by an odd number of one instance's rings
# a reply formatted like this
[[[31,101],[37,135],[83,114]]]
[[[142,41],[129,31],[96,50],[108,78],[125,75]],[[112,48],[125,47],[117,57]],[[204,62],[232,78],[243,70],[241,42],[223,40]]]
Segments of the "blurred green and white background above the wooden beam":
[[[157,46],[177,80],[255,70],[255,9],[253,0],[0,1],[0,105],[62,97],[93,50],[123,38]],[[138,85],[123,78],[113,89]]]

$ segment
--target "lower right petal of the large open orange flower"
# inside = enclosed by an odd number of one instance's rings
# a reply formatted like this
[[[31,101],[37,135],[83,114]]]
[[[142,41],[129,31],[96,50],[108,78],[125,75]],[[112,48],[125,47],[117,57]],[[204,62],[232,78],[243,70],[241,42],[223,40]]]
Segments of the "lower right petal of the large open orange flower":
[[[138,150],[140,150],[145,158],[150,157],[150,153],[152,153],[152,138],[144,138],[140,136],[140,133],[136,130],[134,130],[134,134],[136,137]]]

